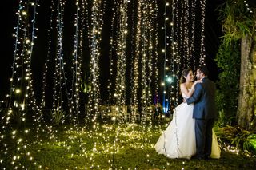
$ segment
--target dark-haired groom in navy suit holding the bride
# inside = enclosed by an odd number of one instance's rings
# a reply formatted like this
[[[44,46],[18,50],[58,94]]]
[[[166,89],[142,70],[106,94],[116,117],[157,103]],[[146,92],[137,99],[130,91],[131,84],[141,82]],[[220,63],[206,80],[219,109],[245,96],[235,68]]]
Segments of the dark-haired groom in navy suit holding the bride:
[[[195,119],[196,158],[210,159],[212,144],[212,128],[217,117],[215,107],[215,85],[207,78],[208,69],[201,66],[197,69],[197,79],[202,83],[195,85],[193,95],[186,99],[187,105],[194,103],[193,118]]]

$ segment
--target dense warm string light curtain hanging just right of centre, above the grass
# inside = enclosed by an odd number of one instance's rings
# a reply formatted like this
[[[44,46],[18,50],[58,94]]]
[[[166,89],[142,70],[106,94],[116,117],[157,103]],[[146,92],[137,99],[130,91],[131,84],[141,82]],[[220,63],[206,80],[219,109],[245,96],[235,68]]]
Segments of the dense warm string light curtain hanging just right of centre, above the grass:
[[[144,121],[150,116],[150,105],[153,104],[153,96],[158,89],[158,85],[155,85],[155,80],[158,80],[158,54],[155,53],[158,51],[158,34],[155,30],[158,28],[157,11],[157,2],[138,1],[130,101],[132,115],[139,109]]]

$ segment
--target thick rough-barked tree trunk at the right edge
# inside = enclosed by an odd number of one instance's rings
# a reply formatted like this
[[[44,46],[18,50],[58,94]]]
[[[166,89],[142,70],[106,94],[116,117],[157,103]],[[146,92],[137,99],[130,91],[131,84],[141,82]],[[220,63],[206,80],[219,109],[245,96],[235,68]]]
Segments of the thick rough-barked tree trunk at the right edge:
[[[238,126],[256,128],[256,44],[251,37],[241,41],[241,73],[238,97]]]

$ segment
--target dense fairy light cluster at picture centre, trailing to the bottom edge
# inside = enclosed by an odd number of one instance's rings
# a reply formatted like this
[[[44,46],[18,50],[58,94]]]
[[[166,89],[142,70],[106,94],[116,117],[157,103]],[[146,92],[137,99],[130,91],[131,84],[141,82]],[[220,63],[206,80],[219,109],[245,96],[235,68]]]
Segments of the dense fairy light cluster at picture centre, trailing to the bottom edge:
[[[111,85],[111,77],[114,68],[114,60],[112,55],[116,55],[116,77],[115,77],[115,88],[114,88],[114,106],[111,106],[112,109],[115,109],[115,112],[117,112],[117,115],[114,115],[112,117],[113,123],[114,123],[114,142],[113,142],[113,152],[112,152],[112,160],[111,166],[114,168],[115,164],[115,155],[120,149],[120,145],[118,144],[119,139],[119,133],[121,131],[120,126],[118,125],[118,128],[116,128],[116,124],[121,124],[124,121],[126,121],[124,115],[126,114],[126,38],[128,34],[127,29],[127,12],[128,12],[128,2],[126,0],[122,1],[114,1],[114,8],[113,8],[113,18],[111,22],[111,39],[110,39],[110,79],[109,79],[109,86]],[[115,27],[114,27],[115,26]],[[116,36],[114,36],[114,30],[116,31]],[[116,50],[114,50],[114,47],[116,47]],[[116,53],[114,53],[116,52]],[[110,90],[110,89],[109,89]],[[111,99],[111,93],[109,91]]]

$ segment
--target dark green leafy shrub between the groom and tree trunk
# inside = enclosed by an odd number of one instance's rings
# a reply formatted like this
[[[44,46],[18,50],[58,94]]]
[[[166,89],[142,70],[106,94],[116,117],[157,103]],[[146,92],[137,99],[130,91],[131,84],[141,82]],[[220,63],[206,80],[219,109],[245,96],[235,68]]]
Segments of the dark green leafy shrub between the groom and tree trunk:
[[[240,53],[238,42],[232,42],[232,45],[222,43],[218,49],[215,59],[219,73],[218,91],[216,95],[216,104],[219,111],[219,121],[221,125],[234,124],[239,92],[239,74],[240,74]]]

